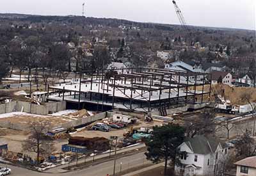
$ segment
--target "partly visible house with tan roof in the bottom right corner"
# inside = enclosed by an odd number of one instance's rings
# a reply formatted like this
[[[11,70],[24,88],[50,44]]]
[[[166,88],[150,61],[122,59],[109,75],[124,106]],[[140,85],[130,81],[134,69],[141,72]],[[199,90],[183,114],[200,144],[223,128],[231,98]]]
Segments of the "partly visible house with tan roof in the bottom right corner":
[[[236,176],[256,175],[256,156],[246,157],[236,163]]]

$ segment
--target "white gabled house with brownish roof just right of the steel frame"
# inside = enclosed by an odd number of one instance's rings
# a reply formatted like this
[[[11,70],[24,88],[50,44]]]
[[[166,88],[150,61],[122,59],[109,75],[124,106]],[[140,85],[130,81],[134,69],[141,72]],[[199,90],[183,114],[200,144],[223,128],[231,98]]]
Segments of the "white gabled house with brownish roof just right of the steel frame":
[[[219,82],[232,86],[232,74],[229,72],[212,72],[212,84],[218,84]]]

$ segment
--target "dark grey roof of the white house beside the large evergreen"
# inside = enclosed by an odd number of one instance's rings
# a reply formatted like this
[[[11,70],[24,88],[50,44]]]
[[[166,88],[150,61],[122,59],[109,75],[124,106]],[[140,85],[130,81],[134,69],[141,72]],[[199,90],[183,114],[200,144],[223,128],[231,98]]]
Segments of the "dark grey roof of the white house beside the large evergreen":
[[[186,145],[195,153],[195,154],[212,154],[216,151],[220,141],[212,138],[210,136],[196,136],[195,138],[189,138],[184,141]]]

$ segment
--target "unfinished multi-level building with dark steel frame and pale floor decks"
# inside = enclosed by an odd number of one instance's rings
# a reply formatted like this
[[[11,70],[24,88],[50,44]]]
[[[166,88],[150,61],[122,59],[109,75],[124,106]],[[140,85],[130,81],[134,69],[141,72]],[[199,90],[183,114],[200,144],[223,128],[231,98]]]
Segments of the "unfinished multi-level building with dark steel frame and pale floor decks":
[[[47,100],[66,100],[72,109],[166,115],[166,109],[204,103],[205,95],[211,97],[211,74],[140,67],[81,72],[78,84],[48,86]]]

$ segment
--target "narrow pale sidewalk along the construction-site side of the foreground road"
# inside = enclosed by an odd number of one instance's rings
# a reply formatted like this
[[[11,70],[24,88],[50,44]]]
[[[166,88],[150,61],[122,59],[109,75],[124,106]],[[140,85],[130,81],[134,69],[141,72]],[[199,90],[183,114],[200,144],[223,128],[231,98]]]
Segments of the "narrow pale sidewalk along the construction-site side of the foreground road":
[[[140,144],[140,145],[136,145],[136,146],[133,146],[133,147],[127,147],[127,148],[122,148],[120,150],[116,150],[116,154],[122,154],[123,152],[127,152],[127,151],[130,151],[130,150],[136,150],[136,149],[139,149],[139,148],[143,148],[145,147],[145,144]],[[115,154],[115,152],[113,150],[111,150],[111,156],[113,156]],[[105,154],[99,154],[99,155],[96,155],[94,157],[95,160],[97,159],[101,159],[103,157],[108,157],[109,156],[109,152],[105,153]],[[87,161],[92,161],[93,160],[93,157],[87,157],[86,158],[86,162]],[[81,158],[78,160],[77,164],[79,163],[84,163],[84,158]],[[76,165],[76,161],[72,161],[72,163],[70,163],[70,166],[75,166]],[[61,166],[57,166],[55,168],[51,168],[49,170],[45,170],[44,172],[45,173],[65,173],[65,172],[68,172],[67,170],[63,170],[62,168],[66,168],[68,167],[68,164],[63,164]]]

